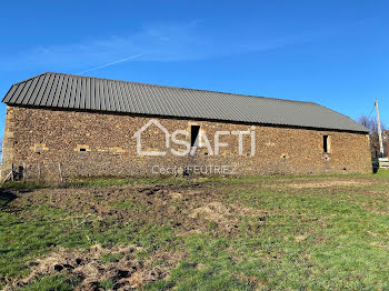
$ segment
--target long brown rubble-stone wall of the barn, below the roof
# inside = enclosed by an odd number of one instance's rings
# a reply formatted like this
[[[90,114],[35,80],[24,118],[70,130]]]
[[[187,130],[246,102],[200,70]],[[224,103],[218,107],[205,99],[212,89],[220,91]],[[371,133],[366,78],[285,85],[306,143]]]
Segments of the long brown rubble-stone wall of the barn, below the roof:
[[[157,120],[170,132],[169,138],[174,130],[200,126],[212,150],[216,131],[255,131],[255,154],[250,151],[251,136],[243,136],[240,155],[238,136],[229,134],[220,137],[220,141],[229,146],[220,148],[218,155],[201,147],[194,155],[178,157],[166,150],[164,133],[151,124],[141,134],[141,149],[167,153],[141,157],[133,134],[150,120],[124,114],[8,107],[1,177],[9,173],[12,164],[14,169],[24,164],[28,179],[58,179],[60,172],[64,178],[152,177],[164,174],[163,169],[171,172],[188,165],[197,165],[189,172],[219,174],[225,171],[225,174],[251,177],[371,172],[367,134],[180,119]],[[330,137],[329,153],[323,152],[325,134]],[[184,136],[178,139],[190,141],[190,137]],[[178,151],[186,149],[171,140],[170,146]],[[220,167],[223,168],[220,170]]]

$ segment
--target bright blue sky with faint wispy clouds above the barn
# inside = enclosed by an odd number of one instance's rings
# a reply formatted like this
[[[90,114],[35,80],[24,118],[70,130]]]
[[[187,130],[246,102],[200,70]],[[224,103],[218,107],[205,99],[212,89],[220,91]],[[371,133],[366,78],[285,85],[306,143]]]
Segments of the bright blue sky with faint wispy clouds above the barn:
[[[0,96],[44,71],[315,101],[389,122],[388,1],[1,1]],[[0,107],[0,134],[6,106]]]

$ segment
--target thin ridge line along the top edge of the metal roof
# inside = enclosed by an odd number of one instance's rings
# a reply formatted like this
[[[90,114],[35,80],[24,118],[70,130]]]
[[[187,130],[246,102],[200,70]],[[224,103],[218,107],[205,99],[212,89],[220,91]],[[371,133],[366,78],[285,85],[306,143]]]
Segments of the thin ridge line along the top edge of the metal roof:
[[[142,84],[142,86],[153,86],[159,88],[170,88],[170,89],[180,89],[180,90],[189,90],[189,91],[200,91],[200,92],[210,92],[210,93],[221,93],[221,94],[229,94],[229,96],[241,96],[241,97],[249,97],[249,98],[263,98],[263,99],[271,99],[271,100],[278,100],[278,101],[286,101],[286,102],[297,102],[297,103],[311,103],[311,104],[318,104],[312,101],[300,101],[300,100],[289,100],[289,99],[281,99],[281,98],[273,98],[273,97],[265,97],[265,96],[251,96],[251,94],[239,94],[239,93],[231,93],[231,92],[222,92],[222,91],[215,91],[215,90],[203,90],[203,89],[192,89],[192,88],[183,88],[183,87],[174,87],[174,86],[164,86],[164,84],[152,84],[152,83],[141,83],[141,82],[134,82],[134,81],[124,81],[124,80],[114,80],[114,79],[108,79],[108,78],[99,78],[99,77],[90,77],[90,76],[80,76],[80,74],[73,74],[73,73],[62,73],[62,72],[44,72],[46,73],[56,73],[56,74],[64,74],[64,76],[72,76],[77,78],[90,78],[90,79],[97,79],[97,80],[107,80],[107,81],[113,81],[113,82],[123,82],[123,83],[134,83],[134,84]],[[41,74],[38,74],[36,77],[39,77]],[[30,79],[33,79],[36,77],[32,77]],[[23,81],[22,81],[23,82]]]

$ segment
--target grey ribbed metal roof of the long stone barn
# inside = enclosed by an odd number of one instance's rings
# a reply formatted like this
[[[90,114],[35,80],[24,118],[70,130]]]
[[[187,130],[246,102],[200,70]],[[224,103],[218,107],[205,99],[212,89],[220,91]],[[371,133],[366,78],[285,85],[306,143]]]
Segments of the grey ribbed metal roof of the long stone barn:
[[[2,102],[57,109],[222,120],[368,132],[312,102],[231,94],[46,72],[16,83]]]

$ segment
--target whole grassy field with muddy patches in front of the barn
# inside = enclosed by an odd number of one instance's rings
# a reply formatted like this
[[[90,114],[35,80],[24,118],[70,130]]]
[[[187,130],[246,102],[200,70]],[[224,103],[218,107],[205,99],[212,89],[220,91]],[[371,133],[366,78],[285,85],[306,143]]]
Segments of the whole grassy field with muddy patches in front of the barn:
[[[6,184],[9,290],[389,290],[389,174]]]

